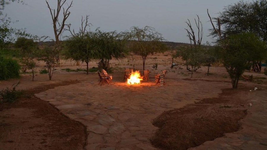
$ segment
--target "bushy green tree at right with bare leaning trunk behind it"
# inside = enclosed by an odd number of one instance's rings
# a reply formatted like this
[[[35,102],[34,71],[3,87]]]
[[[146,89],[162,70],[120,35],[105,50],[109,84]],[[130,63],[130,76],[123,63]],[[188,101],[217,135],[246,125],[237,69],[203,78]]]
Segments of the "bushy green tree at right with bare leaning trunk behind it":
[[[213,32],[217,33],[217,46],[220,46],[220,59],[230,75],[232,87],[237,88],[238,81],[244,70],[251,61],[263,59],[266,54],[266,43],[261,41],[254,33],[238,33],[229,36],[222,36],[220,19],[215,27],[212,18],[207,10]]]

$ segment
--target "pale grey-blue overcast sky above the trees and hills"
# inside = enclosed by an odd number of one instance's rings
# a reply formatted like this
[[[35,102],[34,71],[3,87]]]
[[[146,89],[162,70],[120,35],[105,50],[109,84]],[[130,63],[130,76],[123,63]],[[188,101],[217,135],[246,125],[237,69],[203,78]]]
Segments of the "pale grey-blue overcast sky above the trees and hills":
[[[33,35],[50,36],[53,33],[52,18],[45,0],[23,0],[26,4],[10,3],[5,13],[12,20],[19,20],[12,24],[15,28],[26,28]],[[70,4],[71,0],[67,0]],[[103,31],[125,31],[132,26],[144,28],[150,26],[163,35],[167,41],[189,43],[187,38],[186,21],[191,24],[200,17],[203,24],[203,40],[212,42],[208,29],[212,28],[207,9],[212,17],[229,4],[239,0],[73,0],[71,12],[66,23],[71,23],[71,29],[76,31],[81,26],[81,17],[89,15],[92,24],[90,30],[100,27]],[[48,0],[51,8],[56,9],[56,0]],[[66,7],[66,6],[65,6]],[[62,13],[61,13],[62,14]],[[194,26],[195,27],[195,26]],[[195,31],[197,31],[195,29]],[[69,35],[65,32],[64,35]],[[63,40],[63,38],[61,38]]]

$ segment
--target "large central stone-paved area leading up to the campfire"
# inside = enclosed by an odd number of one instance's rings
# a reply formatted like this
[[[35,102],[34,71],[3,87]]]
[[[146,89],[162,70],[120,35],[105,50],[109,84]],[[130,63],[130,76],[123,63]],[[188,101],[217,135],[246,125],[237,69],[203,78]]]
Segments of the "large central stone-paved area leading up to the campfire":
[[[220,89],[229,88],[229,83],[199,80],[167,79],[166,83],[163,87],[153,82],[98,86],[96,81],[89,80],[36,96],[87,126],[87,150],[153,150],[156,148],[149,138],[157,130],[151,123],[155,117],[203,98],[217,97]]]

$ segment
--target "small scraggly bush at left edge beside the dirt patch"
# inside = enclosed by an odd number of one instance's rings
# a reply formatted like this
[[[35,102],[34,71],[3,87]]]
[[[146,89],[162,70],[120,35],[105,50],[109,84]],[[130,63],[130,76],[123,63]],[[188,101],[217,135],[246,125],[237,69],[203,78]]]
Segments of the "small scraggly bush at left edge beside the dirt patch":
[[[0,91],[0,103],[14,103],[19,97],[23,95],[23,90],[16,90],[20,82],[13,84],[12,89],[6,88]]]

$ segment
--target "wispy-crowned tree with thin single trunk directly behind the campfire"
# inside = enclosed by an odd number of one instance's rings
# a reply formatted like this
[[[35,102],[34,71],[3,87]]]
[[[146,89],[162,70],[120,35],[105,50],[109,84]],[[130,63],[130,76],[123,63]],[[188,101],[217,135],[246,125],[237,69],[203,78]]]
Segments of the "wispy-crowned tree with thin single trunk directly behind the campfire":
[[[130,31],[128,33],[128,39],[131,40],[129,48],[134,54],[142,56],[144,72],[147,56],[157,52],[163,53],[168,47],[162,42],[164,41],[162,35],[152,27],[138,28],[133,26]]]

